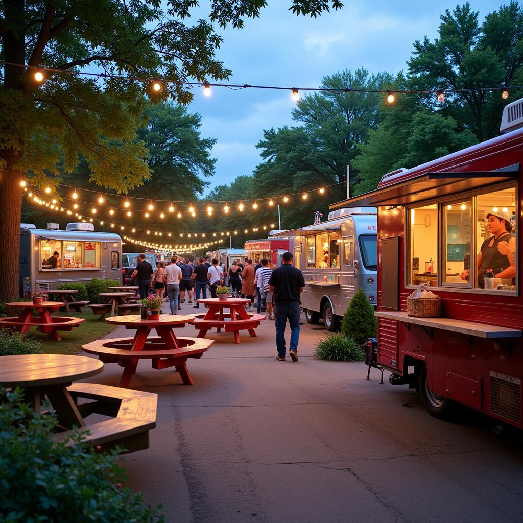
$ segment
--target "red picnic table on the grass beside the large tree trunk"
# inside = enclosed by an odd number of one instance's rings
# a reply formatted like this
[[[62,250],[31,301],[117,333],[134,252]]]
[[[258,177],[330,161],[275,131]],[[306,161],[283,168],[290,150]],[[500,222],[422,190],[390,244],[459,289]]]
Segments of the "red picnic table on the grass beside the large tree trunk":
[[[13,309],[21,309],[21,311],[18,316],[0,319],[0,327],[15,330],[20,334],[28,333],[31,327],[36,327],[38,331],[48,334],[56,342],[60,342],[62,339],[58,331],[72,331],[73,327],[78,327],[85,322],[82,318],[51,316],[51,312],[58,311],[65,305],[62,301],[44,301],[39,305],[30,301],[20,301],[6,303],[6,305]],[[33,316],[33,311],[37,311],[40,315]]]

